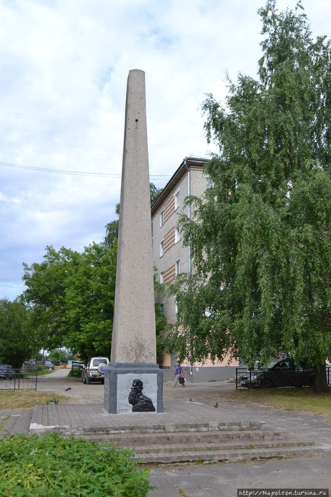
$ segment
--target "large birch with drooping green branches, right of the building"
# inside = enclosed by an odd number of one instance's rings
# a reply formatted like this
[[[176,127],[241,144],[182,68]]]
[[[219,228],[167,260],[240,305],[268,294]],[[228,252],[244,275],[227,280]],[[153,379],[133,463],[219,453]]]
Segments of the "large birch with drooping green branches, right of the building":
[[[259,10],[258,79],[228,81],[225,104],[206,96],[212,187],[181,217],[194,262],[173,292],[168,350],[252,363],[279,351],[307,361],[328,391],[331,357],[331,57],[297,4]],[[180,329],[180,332],[178,330]]]

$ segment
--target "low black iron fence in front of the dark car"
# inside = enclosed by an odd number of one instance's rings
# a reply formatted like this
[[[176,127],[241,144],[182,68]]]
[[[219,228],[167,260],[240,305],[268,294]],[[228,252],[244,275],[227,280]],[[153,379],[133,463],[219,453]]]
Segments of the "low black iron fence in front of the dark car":
[[[331,385],[331,366],[327,366],[327,382]],[[237,388],[313,387],[315,373],[310,368],[248,369],[236,368]]]

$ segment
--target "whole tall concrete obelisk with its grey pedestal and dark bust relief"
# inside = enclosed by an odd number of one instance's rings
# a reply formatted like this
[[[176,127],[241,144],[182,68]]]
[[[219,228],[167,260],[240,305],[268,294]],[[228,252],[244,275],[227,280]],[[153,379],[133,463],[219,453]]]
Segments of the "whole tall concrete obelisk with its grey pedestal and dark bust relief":
[[[115,309],[104,387],[104,409],[111,414],[163,412],[153,271],[145,73],[134,69],[127,82]]]

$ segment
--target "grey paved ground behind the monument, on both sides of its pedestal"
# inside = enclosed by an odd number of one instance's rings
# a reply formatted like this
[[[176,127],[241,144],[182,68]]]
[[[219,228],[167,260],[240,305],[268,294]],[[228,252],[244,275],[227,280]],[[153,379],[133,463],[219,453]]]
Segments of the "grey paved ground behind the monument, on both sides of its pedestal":
[[[64,395],[70,404],[102,404],[103,385],[92,383],[85,385],[80,378],[68,376],[70,369],[56,369],[46,376],[38,377],[37,391],[51,392],[56,395]],[[70,390],[66,391],[66,389]],[[234,390],[235,385],[226,381],[190,384],[186,383],[185,388],[177,385],[171,388],[171,383],[164,383],[163,397],[168,400],[192,399],[193,402],[214,405],[218,400],[221,391]]]

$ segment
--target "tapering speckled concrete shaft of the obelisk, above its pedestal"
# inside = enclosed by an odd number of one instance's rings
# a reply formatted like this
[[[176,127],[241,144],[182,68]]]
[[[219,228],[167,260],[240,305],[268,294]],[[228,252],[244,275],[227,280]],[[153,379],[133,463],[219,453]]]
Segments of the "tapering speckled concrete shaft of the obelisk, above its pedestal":
[[[156,364],[145,73],[129,72],[111,362]]]

